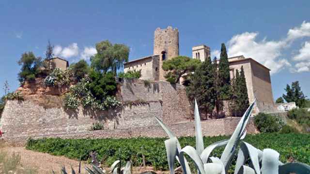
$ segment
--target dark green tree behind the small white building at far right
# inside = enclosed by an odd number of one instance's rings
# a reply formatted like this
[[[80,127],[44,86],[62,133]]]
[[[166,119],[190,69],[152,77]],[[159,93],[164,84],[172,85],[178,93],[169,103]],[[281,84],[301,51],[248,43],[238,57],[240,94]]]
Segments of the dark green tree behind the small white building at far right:
[[[293,82],[292,87],[287,84],[284,90],[286,91],[286,95],[283,94],[283,98],[286,102],[295,102],[297,106],[305,107],[306,96],[301,91],[298,81]]]

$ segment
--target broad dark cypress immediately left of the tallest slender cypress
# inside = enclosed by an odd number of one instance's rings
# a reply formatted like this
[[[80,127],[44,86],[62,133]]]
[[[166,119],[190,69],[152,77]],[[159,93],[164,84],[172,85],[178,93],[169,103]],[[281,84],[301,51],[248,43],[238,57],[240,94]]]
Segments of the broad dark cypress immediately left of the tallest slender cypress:
[[[187,87],[187,95],[191,101],[196,99],[202,112],[206,117],[209,114],[211,118],[215,107],[214,75],[211,58],[206,58],[192,74],[190,85]]]

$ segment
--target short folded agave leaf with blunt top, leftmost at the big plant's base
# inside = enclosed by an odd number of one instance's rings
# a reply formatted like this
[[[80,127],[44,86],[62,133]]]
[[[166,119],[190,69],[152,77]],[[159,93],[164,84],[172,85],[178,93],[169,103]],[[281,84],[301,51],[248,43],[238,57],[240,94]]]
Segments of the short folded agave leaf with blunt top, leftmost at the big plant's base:
[[[167,152],[167,159],[168,165],[170,169],[170,173],[174,174],[174,160],[177,153],[177,139],[171,138],[165,141],[166,152]]]

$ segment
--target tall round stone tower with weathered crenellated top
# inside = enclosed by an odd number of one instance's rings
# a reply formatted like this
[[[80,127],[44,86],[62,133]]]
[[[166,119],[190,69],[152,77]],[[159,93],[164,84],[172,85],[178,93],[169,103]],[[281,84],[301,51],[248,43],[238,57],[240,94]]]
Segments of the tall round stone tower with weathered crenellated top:
[[[159,80],[165,80],[162,70],[164,60],[179,56],[179,30],[168,27],[157,28],[154,32],[154,55],[159,55]]]

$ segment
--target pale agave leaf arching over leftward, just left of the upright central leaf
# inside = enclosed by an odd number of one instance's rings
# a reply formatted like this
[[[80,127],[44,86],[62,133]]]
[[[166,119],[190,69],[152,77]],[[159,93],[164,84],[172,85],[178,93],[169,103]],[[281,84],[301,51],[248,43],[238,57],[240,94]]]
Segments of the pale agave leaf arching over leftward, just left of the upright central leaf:
[[[202,159],[195,148],[189,145],[185,146],[179,154],[180,158],[184,158],[184,153],[186,153],[194,161],[199,174],[205,174]]]

